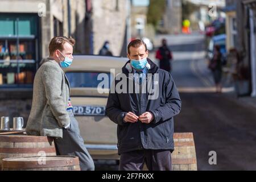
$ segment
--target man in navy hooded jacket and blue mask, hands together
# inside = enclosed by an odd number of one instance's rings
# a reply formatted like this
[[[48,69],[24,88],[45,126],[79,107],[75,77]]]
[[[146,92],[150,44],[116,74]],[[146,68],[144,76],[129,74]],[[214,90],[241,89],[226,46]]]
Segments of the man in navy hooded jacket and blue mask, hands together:
[[[174,116],[181,110],[174,79],[148,59],[142,40],[133,40],[127,51],[130,60],[115,78],[106,105],[118,125],[119,170],[139,171],[144,163],[149,170],[171,170]]]

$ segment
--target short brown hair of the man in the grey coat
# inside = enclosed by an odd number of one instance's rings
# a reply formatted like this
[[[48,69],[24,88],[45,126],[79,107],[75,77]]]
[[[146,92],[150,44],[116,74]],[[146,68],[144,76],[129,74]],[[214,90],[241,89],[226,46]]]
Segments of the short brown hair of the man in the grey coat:
[[[51,42],[49,43],[49,55],[52,55],[52,53],[57,49],[63,51],[63,45],[65,43],[75,46],[76,40],[71,37],[67,38],[65,36],[55,36],[52,38]]]

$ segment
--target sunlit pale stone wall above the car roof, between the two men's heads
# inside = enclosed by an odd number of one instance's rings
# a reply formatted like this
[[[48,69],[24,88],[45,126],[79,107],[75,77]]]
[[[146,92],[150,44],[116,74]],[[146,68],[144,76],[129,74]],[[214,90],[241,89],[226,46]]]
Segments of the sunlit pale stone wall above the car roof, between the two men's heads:
[[[105,40],[109,40],[114,56],[119,56],[126,39],[126,1],[93,0],[93,53],[98,54]]]

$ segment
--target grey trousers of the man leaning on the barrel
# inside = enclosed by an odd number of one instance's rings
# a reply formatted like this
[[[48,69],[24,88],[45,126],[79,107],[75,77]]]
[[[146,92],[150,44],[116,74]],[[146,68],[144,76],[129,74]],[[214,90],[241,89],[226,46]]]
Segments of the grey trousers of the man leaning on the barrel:
[[[81,171],[94,171],[93,159],[87,151],[84,139],[80,135],[79,125],[72,111],[69,111],[71,126],[63,129],[63,138],[55,138],[57,155],[71,155],[79,157]]]

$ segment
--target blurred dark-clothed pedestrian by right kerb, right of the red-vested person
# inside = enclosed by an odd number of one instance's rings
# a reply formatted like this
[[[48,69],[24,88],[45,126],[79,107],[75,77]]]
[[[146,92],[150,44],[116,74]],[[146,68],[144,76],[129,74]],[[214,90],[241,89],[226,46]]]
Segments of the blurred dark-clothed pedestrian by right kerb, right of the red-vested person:
[[[222,78],[222,55],[220,46],[215,45],[213,49],[213,58],[210,60],[209,69],[212,71],[214,82],[216,85],[216,92],[222,92],[221,78]]]

